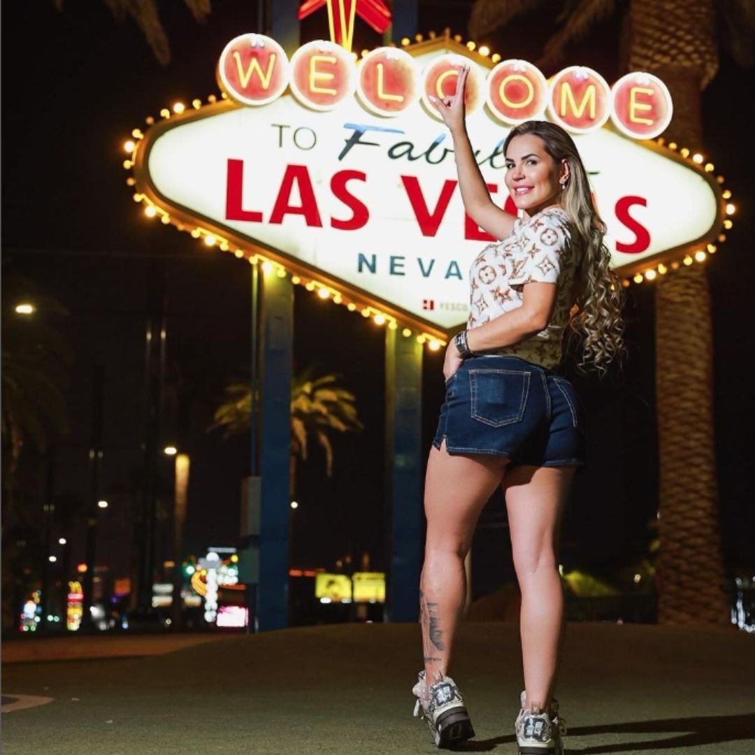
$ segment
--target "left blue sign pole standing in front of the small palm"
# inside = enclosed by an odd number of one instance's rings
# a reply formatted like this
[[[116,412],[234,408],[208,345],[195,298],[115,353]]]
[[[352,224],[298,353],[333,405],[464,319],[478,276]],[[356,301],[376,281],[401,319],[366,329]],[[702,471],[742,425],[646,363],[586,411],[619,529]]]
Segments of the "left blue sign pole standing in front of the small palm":
[[[288,626],[288,482],[294,285],[262,273],[260,344],[260,630]]]

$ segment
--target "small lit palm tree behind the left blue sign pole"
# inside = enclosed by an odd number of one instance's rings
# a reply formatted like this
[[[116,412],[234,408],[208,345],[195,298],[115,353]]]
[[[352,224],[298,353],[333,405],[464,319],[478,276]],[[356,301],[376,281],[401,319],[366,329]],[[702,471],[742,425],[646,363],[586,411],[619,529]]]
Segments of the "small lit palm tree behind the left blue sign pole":
[[[334,374],[312,377],[309,370],[294,375],[291,381],[291,495],[295,490],[297,460],[307,460],[309,439],[314,438],[325,451],[325,473],[333,473],[332,433],[362,430],[354,404],[355,396],[338,385]],[[225,399],[217,407],[214,424],[224,427],[226,437],[248,433],[251,427],[251,387],[234,381],[226,386]]]

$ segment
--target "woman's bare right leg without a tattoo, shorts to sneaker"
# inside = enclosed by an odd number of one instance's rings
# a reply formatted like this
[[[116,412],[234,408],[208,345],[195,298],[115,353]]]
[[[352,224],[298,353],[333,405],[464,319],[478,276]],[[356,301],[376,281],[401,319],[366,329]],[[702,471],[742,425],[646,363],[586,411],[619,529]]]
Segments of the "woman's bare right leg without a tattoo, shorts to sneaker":
[[[504,478],[519,618],[526,708],[548,710],[563,630],[558,566],[561,515],[574,467],[513,467]]]

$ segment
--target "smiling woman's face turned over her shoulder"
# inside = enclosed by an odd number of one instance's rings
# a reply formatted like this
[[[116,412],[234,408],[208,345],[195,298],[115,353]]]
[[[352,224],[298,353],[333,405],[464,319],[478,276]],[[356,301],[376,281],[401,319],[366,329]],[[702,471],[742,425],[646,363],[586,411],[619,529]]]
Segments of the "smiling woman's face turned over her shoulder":
[[[535,134],[513,137],[506,150],[506,186],[516,208],[532,216],[561,198],[559,180],[567,175],[565,165],[557,165],[545,151],[544,141]]]

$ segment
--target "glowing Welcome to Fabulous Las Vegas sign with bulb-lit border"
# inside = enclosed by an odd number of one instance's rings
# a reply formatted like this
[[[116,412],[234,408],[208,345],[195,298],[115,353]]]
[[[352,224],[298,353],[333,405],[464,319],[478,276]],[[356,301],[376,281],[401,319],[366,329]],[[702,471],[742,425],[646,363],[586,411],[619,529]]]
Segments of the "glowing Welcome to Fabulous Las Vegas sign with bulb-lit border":
[[[450,137],[428,101],[453,91],[460,62],[470,139],[509,211],[501,145],[514,123],[546,117],[575,137],[621,273],[720,233],[716,180],[653,140],[671,115],[658,79],[609,88],[569,66],[546,82],[526,61],[493,66],[447,37],[359,64],[331,42],[288,60],[269,37],[233,39],[217,69],[223,99],[141,134],[137,197],[183,230],[444,337],[466,317],[467,268],[491,240],[464,214]]]

